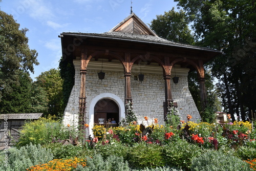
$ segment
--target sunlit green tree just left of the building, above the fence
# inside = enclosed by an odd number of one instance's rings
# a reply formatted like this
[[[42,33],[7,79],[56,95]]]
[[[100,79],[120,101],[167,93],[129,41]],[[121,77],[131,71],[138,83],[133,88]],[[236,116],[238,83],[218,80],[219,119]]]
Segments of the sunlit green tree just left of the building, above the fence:
[[[36,77],[35,84],[44,89],[47,93],[48,109],[50,115],[61,116],[64,110],[63,107],[63,80],[60,77],[58,69],[51,69],[41,73]]]

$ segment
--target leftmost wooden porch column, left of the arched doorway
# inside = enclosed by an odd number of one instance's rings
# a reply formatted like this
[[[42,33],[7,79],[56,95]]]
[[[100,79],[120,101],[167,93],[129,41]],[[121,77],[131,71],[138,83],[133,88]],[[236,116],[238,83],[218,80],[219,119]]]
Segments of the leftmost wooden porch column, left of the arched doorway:
[[[80,59],[80,95],[79,95],[79,116],[78,116],[78,126],[81,131],[84,130],[84,124],[86,123],[86,65],[87,51],[82,50]]]

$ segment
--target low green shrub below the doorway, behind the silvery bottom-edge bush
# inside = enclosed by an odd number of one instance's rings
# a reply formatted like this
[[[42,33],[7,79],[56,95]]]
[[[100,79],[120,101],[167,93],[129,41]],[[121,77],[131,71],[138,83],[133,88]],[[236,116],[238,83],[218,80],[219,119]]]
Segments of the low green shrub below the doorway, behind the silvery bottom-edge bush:
[[[97,145],[95,147],[96,153],[101,154],[103,159],[108,158],[109,156],[118,156],[127,158],[127,153],[131,147],[121,143],[113,143],[113,144],[105,144],[105,145]]]

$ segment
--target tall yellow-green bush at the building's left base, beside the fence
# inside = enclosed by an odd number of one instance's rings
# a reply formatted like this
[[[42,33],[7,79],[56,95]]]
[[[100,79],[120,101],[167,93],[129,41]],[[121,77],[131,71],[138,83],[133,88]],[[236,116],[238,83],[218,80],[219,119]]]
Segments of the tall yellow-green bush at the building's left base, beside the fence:
[[[26,122],[21,131],[17,146],[26,144],[47,144],[56,139],[68,139],[72,130],[62,129],[62,125],[51,118],[39,118],[35,121]]]

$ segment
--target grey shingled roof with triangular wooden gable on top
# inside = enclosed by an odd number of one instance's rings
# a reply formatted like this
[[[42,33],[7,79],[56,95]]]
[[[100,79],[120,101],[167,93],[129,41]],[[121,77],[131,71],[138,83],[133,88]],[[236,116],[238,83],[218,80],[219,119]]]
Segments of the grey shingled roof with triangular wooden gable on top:
[[[116,39],[132,42],[143,42],[146,44],[158,44],[163,46],[175,46],[190,49],[198,49],[205,51],[217,51],[209,48],[202,48],[187,44],[181,44],[159,37],[153,30],[147,27],[142,20],[134,13],[126,17],[117,26],[105,33],[74,33],[63,32],[61,35],[75,36],[75,37],[91,37],[102,39]]]

